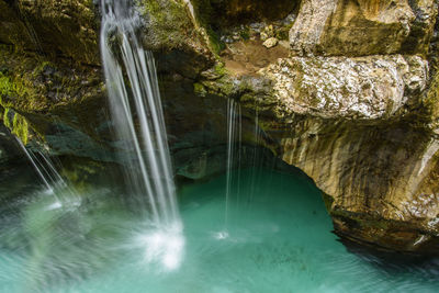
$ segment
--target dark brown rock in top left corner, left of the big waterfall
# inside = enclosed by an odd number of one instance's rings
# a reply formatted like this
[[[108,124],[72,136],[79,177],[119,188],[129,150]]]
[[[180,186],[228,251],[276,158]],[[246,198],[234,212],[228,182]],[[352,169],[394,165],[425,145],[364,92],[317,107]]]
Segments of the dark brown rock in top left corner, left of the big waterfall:
[[[99,18],[93,0],[0,0],[0,42],[16,50],[100,64]]]

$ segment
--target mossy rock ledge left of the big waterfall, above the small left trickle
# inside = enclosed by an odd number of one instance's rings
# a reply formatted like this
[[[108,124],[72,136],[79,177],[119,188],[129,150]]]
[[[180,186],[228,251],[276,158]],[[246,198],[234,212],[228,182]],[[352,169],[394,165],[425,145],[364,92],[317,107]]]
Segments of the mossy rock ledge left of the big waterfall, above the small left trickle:
[[[106,105],[99,68],[0,50],[0,106],[16,113],[3,123],[23,143],[36,137],[45,142],[60,121],[99,140],[97,128],[105,120],[100,113]]]

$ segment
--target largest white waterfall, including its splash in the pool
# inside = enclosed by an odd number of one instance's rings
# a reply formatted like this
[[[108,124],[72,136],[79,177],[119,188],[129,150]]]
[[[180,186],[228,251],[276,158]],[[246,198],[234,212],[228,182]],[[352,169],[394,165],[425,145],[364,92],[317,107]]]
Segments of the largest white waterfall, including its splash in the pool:
[[[130,154],[124,160],[135,206],[148,212],[154,227],[138,244],[147,247],[149,262],[173,269],[184,241],[154,57],[137,38],[140,21],[132,1],[102,0],[101,9],[102,64],[115,133]]]

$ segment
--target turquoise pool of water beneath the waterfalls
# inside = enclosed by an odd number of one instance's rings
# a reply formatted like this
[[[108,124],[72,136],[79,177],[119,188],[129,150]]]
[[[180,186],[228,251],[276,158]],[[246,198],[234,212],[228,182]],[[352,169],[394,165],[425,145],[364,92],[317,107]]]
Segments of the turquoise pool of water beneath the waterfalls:
[[[179,192],[184,230],[164,232],[126,209],[117,188],[95,187],[80,205],[59,206],[32,174],[19,173],[0,185],[0,292],[438,289],[438,260],[407,264],[348,252],[330,233],[318,190],[300,174],[241,170],[227,225],[226,178],[187,184]]]

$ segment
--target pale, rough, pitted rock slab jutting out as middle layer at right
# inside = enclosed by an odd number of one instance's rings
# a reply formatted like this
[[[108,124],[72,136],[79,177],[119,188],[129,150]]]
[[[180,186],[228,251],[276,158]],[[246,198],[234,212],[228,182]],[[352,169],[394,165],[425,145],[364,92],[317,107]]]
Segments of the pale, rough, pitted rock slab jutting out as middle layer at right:
[[[260,71],[285,115],[389,119],[420,92],[427,63],[417,56],[293,57]]]

